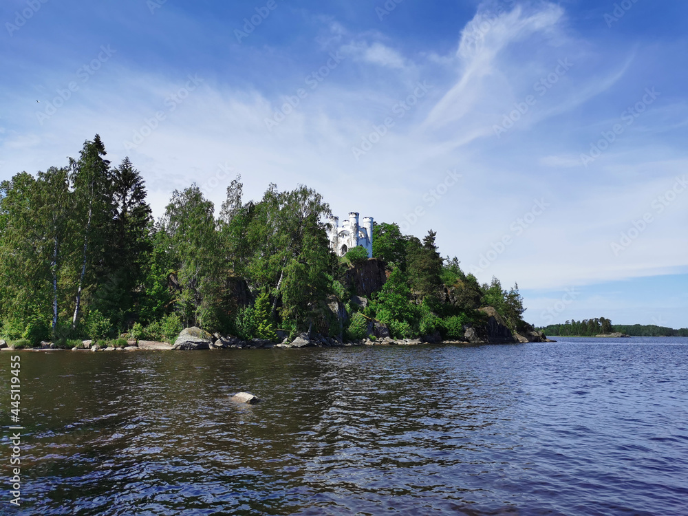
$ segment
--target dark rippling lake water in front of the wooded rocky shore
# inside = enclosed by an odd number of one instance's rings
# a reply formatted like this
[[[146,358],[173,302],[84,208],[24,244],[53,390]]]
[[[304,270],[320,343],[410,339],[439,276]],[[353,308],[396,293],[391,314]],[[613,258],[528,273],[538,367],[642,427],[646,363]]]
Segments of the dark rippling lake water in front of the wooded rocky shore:
[[[687,338],[21,352],[21,510],[12,354],[0,513],[688,514]]]

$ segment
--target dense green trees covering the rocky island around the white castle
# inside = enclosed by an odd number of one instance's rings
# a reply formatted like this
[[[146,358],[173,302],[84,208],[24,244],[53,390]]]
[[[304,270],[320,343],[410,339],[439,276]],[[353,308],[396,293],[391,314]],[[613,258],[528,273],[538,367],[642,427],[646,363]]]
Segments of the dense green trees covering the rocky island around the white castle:
[[[0,184],[0,334],[31,343],[89,336],[171,339],[184,326],[274,339],[277,328],[361,338],[373,320],[395,336],[460,338],[492,305],[513,330],[524,323],[515,286],[480,285],[397,224],[376,224],[374,257],[389,279],[365,308],[347,270],[362,248],[330,250],[330,207],[319,193],[270,184],[245,201],[241,178],[215,206],[195,185],[175,190],[151,217],[141,174],[112,166],[98,135],[78,158]],[[340,308],[337,308],[340,307]]]

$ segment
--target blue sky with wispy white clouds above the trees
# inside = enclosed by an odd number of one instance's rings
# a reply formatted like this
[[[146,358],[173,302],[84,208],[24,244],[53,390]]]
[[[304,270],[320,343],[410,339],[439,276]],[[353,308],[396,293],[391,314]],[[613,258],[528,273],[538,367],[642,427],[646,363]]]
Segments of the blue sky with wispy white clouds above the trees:
[[[688,326],[688,4],[428,4],[3,1],[0,179],[100,133],[156,215],[308,184],[533,323]]]

